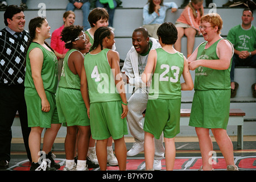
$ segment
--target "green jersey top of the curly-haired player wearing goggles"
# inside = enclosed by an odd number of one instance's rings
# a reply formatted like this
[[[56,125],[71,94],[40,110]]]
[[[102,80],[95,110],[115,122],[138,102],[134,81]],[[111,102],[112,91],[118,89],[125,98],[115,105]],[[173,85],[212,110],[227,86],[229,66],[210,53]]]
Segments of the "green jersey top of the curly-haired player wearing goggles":
[[[68,58],[72,52],[77,51],[76,49],[70,49],[63,60],[63,67],[61,70],[59,87],[68,88],[68,89],[77,89],[80,90],[80,77],[75,75],[68,67]]]

